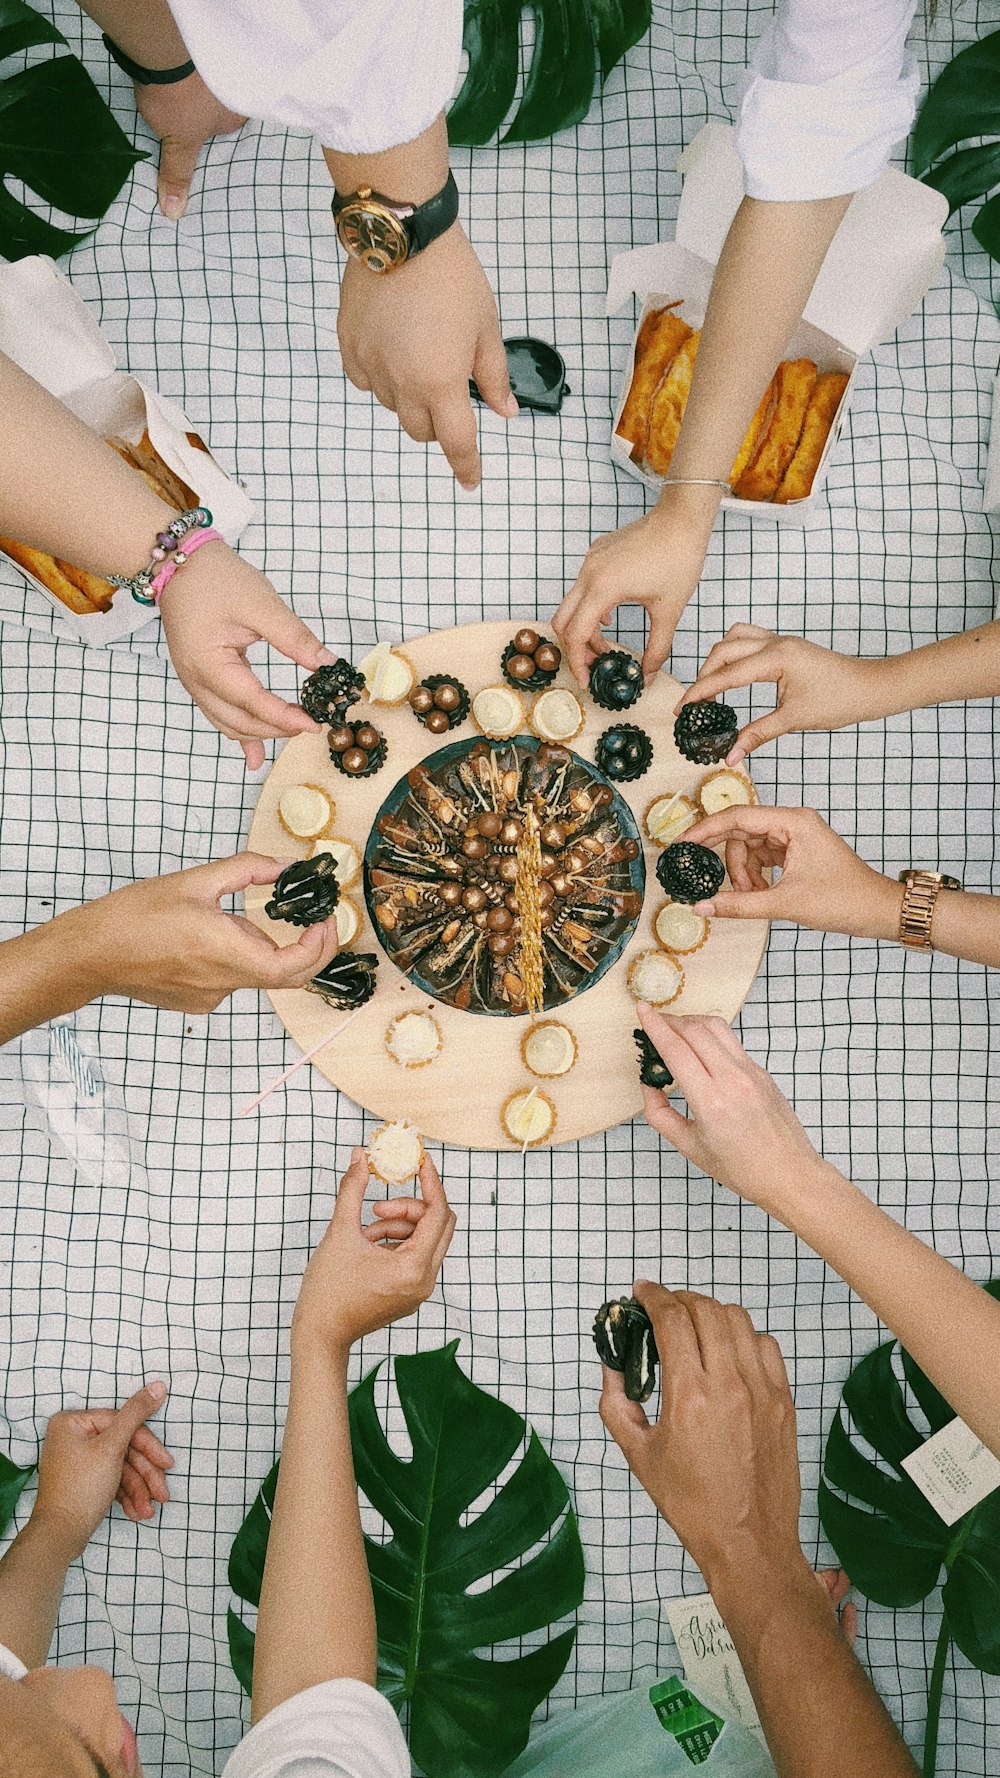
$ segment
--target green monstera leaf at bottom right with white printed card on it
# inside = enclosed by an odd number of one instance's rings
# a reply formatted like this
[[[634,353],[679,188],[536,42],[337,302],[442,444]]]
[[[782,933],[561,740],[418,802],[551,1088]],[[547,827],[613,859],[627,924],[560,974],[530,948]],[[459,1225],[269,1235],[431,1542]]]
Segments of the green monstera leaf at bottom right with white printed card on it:
[[[1000,1300],[1000,1278],[986,1289]],[[923,1773],[932,1778],[948,1645],[954,1641],[980,1671],[1000,1673],[1000,1490],[954,1526],[923,1499],[902,1469],[902,1460],[925,1440],[907,1412],[893,1366],[895,1350],[897,1341],[877,1346],[843,1385],[826,1442],[819,1510],[838,1561],[875,1604],[916,1606],[934,1591],[941,1570],[945,1574],[923,1732]],[[931,1433],[938,1433],[956,1417],[954,1408],[907,1351],[900,1351],[900,1362],[913,1399]],[[852,1442],[845,1408],[856,1433],[888,1469],[877,1467]]]

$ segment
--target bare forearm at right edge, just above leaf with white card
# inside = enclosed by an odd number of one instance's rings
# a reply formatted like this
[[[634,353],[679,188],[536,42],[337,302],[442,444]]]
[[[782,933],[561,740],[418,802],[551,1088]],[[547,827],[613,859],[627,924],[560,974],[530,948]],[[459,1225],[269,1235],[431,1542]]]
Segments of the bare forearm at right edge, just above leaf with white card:
[[[808,1179],[788,1181],[776,1214],[875,1310],[1000,1456],[1000,1303],[826,1161]]]

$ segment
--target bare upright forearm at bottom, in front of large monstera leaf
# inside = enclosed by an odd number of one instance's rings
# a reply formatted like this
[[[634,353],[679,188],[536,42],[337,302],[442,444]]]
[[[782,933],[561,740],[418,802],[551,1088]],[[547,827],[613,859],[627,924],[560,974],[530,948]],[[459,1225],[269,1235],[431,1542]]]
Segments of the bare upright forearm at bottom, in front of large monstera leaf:
[[[329,1678],[375,1680],[375,1607],[347,1419],[347,1353],[292,1342],[251,1719]]]

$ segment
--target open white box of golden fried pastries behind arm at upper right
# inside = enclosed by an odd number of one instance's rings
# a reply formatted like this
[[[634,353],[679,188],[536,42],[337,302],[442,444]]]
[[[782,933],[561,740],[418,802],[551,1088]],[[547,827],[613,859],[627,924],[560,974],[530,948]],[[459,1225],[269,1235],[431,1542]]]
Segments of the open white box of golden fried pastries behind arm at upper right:
[[[642,304],[614,414],[612,461],[649,487],[669,473],[715,265],[742,197],[733,130],[708,123],[678,162],[676,238],[612,261],[607,313]],[[858,192],[751,420],[722,507],[802,519],[826,480],[854,372],[922,300],[945,258],[947,199],[888,169]],[[747,332],[753,315],[746,320]]]

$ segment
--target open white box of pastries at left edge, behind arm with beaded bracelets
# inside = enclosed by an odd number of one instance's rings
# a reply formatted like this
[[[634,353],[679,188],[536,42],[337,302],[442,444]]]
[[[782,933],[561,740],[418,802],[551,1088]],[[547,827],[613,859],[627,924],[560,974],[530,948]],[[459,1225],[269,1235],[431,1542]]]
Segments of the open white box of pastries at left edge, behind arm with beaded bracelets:
[[[142,475],[167,519],[208,507],[215,530],[235,542],[253,507],[215,462],[176,402],[117,370],[93,313],[52,260],[37,254],[0,267],[0,352],[41,382]],[[149,548],[153,546],[149,537]],[[84,642],[114,642],[157,613],[100,574],[55,560],[14,537],[0,551],[44,592]],[[133,564],[126,564],[128,573]]]

